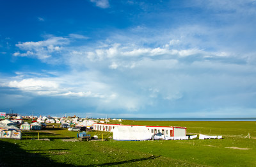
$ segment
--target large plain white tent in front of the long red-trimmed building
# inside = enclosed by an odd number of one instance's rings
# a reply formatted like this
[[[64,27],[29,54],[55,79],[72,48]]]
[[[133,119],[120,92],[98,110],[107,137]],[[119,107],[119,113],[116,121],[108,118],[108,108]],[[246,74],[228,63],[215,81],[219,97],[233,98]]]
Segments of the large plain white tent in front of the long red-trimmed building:
[[[152,136],[145,126],[116,126],[113,130],[113,139],[115,140],[147,140]]]

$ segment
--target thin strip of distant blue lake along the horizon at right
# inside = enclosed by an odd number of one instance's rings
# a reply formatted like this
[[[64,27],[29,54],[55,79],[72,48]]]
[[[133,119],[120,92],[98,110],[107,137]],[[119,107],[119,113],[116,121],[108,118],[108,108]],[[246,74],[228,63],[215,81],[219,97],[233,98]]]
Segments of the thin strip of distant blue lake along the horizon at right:
[[[141,121],[256,121],[256,118],[122,118]]]

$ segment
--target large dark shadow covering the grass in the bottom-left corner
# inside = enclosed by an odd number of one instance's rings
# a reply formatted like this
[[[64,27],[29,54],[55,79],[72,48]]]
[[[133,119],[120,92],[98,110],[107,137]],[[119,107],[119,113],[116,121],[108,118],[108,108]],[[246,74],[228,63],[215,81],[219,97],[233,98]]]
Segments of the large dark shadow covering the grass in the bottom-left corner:
[[[42,154],[32,154],[22,150],[18,145],[0,140],[0,166],[74,166],[51,161]]]

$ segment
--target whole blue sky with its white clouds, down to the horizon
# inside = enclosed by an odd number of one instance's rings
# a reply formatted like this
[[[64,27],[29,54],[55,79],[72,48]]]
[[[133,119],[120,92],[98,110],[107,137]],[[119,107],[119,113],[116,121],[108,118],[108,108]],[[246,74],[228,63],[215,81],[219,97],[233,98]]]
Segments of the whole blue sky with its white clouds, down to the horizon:
[[[0,1],[0,111],[256,117],[256,1]]]

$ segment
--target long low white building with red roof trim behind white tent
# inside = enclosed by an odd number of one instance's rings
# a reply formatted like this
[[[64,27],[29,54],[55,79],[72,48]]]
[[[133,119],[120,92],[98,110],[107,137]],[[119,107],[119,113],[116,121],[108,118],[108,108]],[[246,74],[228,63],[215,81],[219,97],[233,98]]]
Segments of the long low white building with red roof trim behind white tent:
[[[116,126],[140,126],[140,125],[119,125],[119,124],[103,124],[95,123],[93,124],[93,130],[95,131],[107,131],[113,132]],[[186,127],[162,127],[162,126],[146,126],[148,131],[153,135],[161,132],[164,136],[176,137],[176,136],[186,136]]]

